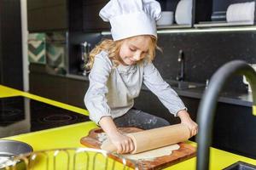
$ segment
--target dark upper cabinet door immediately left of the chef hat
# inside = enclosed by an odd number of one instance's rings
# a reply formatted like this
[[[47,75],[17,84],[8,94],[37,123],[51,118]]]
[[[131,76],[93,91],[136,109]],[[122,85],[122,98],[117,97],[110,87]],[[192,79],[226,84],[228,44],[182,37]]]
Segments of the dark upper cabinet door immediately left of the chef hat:
[[[83,28],[84,31],[109,31],[110,25],[99,16],[100,10],[108,3],[108,0],[84,0],[83,4]]]

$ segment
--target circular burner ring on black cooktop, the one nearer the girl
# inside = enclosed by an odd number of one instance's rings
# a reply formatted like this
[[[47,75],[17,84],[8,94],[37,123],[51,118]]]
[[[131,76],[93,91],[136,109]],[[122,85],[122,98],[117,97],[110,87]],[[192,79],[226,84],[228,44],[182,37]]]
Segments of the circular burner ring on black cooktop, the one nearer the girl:
[[[60,115],[60,114],[55,114],[55,115],[49,115],[45,117],[40,117],[38,119],[39,122],[70,122],[70,121],[75,121],[77,120],[78,116],[70,116],[70,115]]]

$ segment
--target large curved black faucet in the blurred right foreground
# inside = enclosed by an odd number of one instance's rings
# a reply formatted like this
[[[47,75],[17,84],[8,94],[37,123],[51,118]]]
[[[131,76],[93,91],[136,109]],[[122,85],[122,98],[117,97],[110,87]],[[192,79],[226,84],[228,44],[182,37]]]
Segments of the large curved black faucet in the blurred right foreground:
[[[197,113],[199,133],[196,137],[197,158],[196,169],[206,170],[209,168],[209,147],[212,143],[212,124],[217,105],[218,94],[224,84],[233,75],[244,75],[253,90],[253,115],[256,116],[256,72],[245,61],[234,60],[223,65],[212,76],[208,88],[203,94]]]

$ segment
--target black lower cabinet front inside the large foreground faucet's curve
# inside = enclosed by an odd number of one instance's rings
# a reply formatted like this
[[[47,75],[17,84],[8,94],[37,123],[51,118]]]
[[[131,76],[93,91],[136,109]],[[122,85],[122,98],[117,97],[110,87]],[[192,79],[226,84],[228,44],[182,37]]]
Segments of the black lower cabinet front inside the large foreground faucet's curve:
[[[256,118],[252,107],[218,103],[212,144],[221,150],[256,158]]]

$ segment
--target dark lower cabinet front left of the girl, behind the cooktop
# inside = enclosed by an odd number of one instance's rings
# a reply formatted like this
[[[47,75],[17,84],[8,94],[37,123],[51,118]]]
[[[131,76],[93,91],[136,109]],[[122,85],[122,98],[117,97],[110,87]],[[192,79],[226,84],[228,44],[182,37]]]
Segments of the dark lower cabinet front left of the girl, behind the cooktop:
[[[85,109],[84,95],[89,88],[88,81],[30,71],[29,86],[32,94]]]

